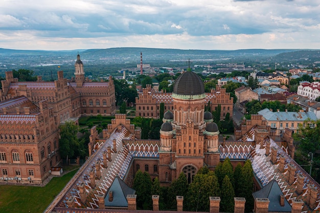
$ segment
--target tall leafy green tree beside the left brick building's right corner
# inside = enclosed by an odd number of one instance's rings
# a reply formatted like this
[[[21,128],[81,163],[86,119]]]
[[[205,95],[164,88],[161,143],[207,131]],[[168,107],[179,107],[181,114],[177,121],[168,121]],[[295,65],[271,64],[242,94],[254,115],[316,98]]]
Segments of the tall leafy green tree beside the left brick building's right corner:
[[[74,122],[65,122],[59,126],[60,139],[59,151],[62,158],[66,158],[68,163],[69,157],[74,157],[76,150],[79,147],[79,140],[77,138],[78,126]]]

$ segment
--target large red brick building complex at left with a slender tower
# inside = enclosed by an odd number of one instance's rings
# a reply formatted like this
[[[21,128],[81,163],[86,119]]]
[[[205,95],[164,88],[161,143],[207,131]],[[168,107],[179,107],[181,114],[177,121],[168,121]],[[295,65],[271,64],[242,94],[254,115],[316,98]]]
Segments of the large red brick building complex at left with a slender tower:
[[[75,80],[19,82],[6,72],[0,91],[0,170],[8,181],[41,183],[60,163],[58,127],[82,115],[113,115],[115,86],[89,82],[77,56]]]

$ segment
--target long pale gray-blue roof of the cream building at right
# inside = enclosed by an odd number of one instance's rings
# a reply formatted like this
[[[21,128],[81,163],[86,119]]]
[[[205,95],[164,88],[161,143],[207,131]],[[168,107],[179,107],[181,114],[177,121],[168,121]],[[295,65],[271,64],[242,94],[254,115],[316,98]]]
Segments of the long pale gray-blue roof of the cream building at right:
[[[265,108],[260,110],[258,114],[262,114],[267,121],[305,121],[310,119],[316,121],[317,117],[313,112],[271,112]]]

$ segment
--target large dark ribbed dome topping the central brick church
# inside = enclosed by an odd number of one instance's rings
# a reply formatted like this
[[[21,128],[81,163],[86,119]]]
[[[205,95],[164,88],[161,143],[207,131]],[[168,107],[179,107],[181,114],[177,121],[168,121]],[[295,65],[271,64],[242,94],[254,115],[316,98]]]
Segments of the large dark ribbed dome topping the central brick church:
[[[197,74],[186,72],[180,75],[175,81],[173,93],[186,96],[204,94],[204,84]]]

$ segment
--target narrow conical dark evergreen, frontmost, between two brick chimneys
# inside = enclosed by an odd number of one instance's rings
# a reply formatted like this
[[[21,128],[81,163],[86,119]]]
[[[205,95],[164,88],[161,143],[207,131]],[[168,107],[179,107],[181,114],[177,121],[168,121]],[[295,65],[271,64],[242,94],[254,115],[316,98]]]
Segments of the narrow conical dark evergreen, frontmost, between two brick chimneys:
[[[251,195],[252,196],[252,195]],[[220,194],[220,211],[233,212],[234,210],[235,192],[229,177],[226,175],[222,180],[221,194]]]

